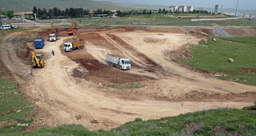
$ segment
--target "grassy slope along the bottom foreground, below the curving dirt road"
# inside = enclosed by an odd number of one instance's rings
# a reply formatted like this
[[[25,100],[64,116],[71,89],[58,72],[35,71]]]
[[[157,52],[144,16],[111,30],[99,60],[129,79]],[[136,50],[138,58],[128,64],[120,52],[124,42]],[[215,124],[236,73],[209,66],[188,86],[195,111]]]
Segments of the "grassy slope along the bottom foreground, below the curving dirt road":
[[[54,128],[39,128],[12,136],[208,136],[256,135],[256,111],[242,109],[210,109],[179,116],[142,121],[136,118],[110,131],[89,131],[81,125],[61,125]]]

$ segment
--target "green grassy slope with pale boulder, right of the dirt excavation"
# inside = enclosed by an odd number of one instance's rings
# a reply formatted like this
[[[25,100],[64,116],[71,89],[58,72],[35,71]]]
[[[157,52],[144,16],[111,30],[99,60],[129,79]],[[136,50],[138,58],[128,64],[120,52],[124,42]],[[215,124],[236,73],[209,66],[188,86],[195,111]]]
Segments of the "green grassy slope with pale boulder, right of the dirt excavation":
[[[217,41],[208,39],[207,44],[201,41],[198,45],[192,45],[189,50],[192,51],[193,58],[189,60],[177,58],[177,60],[213,74],[227,75],[216,76],[222,80],[256,85],[255,37],[214,38]],[[229,63],[229,58],[232,58],[234,62]]]

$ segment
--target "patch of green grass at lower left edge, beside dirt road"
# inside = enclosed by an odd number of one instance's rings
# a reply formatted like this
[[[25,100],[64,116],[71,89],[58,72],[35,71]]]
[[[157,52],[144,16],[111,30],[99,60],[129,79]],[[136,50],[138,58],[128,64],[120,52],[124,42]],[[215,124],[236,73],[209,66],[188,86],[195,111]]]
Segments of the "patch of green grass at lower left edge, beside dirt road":
[[[0,135],[21,131],[24,126],[18,126],[18,123],[31,123],[34,105],[30,104],[22,94],[17,90],[17,83],[0,78]],[[13,127],[14,129],[10,129]]]

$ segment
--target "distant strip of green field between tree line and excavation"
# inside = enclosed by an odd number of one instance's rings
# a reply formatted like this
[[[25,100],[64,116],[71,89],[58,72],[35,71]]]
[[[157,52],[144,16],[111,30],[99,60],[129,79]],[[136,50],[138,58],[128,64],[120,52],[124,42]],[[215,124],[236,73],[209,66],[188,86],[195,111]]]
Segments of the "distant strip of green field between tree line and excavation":
[[[197,19],[199,14],[152,14],[152,15],[131,15],[124,17],[113,18],[73,18],[69,20],[72,23],[76,20],[77,25],[86,25],[89,27],[109,27],[112,25],[133,25],[133,26],[197,26],[197,22],[192,22],[191,19]],[[178,18],[179,16],[185,16]],[[206,17],[211,16],[211,17]],[[218,17],[218,15],[200,14],[200,18],[232,18]],[[241,20],[225,20],[225,21],[200,21],[200,27],[212,27],[212,23],[217,22],[220,26],[256,26],[256,22]]]

